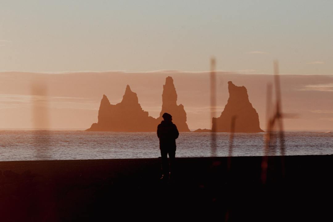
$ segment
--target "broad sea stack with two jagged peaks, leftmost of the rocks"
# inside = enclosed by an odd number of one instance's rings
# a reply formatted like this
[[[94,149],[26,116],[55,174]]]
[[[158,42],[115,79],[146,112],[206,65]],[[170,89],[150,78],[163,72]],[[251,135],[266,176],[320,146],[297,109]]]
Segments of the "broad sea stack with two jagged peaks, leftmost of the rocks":
[[[158,121],[141,108],[137,94],[127,85],[121,103],[112,105],[103,95],[98,123],[87,131],[151,132],[156,131],[157,125]]]

